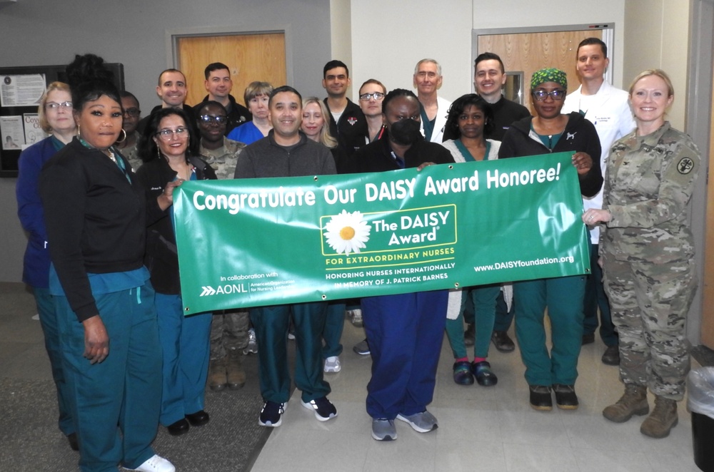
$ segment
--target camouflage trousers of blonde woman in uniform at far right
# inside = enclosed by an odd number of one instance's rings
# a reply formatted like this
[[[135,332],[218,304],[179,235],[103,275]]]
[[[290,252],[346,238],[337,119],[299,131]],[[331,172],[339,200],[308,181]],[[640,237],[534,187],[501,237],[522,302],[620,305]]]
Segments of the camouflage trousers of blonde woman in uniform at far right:
[[[690,367],[686,317],[697,289],[693,260],[655,265],[605,254],[603,264],[620,337],[620,379],[681,400]]]

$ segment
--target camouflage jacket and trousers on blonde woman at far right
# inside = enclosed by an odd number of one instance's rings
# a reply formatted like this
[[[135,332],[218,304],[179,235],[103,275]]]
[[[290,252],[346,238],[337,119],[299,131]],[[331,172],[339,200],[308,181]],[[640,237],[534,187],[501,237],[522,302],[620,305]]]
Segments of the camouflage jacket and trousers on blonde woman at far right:
[[[605,177],[612,219],[600,236],[605,290],[620,335],[620,378],[681,400],[685,320],[697,288],[688,202],[700,168],[691,138],[665,122],[613,144]]]

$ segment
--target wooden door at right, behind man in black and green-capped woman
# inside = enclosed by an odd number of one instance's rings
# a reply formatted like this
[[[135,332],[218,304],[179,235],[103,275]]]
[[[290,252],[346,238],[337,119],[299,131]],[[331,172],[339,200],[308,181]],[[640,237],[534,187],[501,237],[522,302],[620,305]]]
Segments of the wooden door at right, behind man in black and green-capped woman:
[[[523,71],[523,105],[531,106],[531,76],[544,67],[556,67],[568,75],[568,93],[578,88],[575,53],[585,38],[603,38],[602,30],[551,31],[547,33],[491,34],[478,36],[478,53],[501,56],[506,71]]]

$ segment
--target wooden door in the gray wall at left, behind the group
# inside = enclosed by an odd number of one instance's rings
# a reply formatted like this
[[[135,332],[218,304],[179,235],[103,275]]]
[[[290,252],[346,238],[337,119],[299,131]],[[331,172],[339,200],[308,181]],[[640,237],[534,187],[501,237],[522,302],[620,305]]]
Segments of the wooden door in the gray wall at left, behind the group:
[[[285,34],[235,34],[222,36],[182,36],[176,39],[176,68],[186,75],[186,103],[196,105],[206,96],[204,69],[222,62],[231,69],[231,95],[243,103],[243,91],[253,81],[286,83]]]

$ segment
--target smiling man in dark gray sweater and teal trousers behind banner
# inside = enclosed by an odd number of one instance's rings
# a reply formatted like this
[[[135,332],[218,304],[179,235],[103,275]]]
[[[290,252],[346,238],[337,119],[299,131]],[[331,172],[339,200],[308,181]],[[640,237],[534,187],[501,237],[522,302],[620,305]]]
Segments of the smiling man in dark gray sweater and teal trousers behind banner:
[[[236,165],[236,178],[298,177],[336,173],[335,161],[325,146],[300,132],[302,97],[289,86],[278,87],[268,100],[273,129],[266,138],[248,145]],[[264,235],[269,238],[270,235]],[[269,245],[266,245],[269,247]],[[295,322],[295,384],[301,403],[319,421],[337,416],[327,399],[330,384],[323,379],[322,339],[326,302],[258,307],[250,310],[258,340],[258,375],[265,404],[258,424],[280,426],[290,396],[287,336],[292,314]]]

